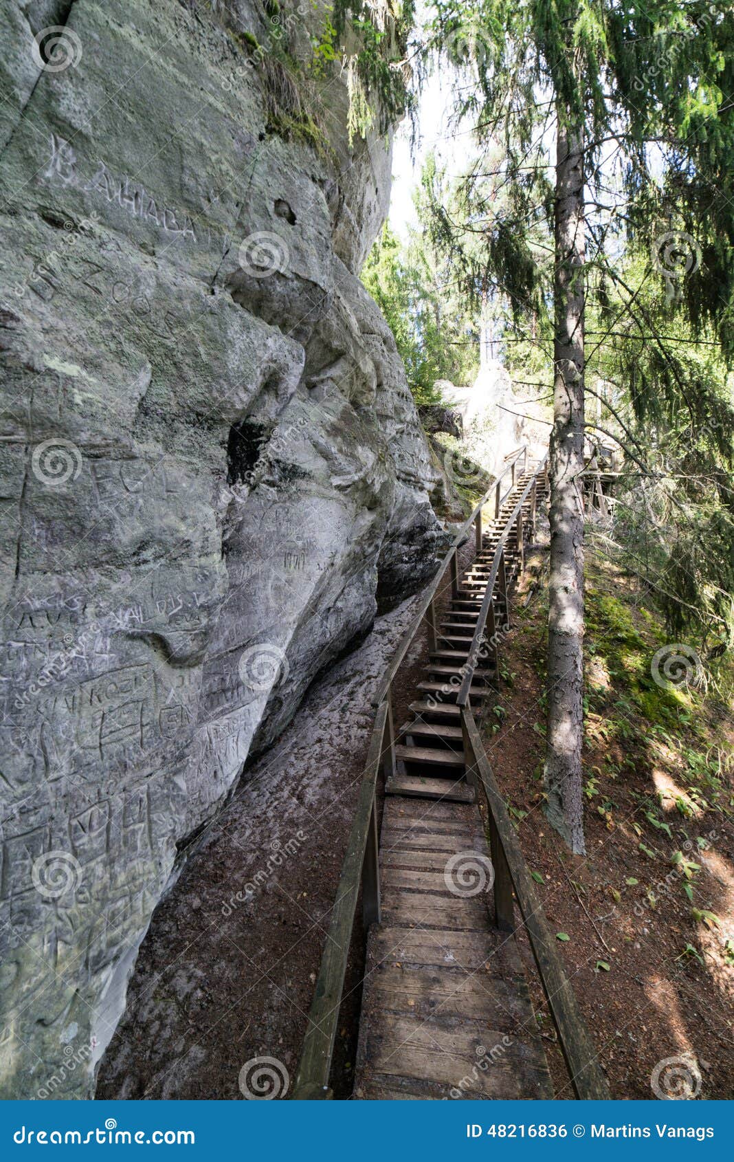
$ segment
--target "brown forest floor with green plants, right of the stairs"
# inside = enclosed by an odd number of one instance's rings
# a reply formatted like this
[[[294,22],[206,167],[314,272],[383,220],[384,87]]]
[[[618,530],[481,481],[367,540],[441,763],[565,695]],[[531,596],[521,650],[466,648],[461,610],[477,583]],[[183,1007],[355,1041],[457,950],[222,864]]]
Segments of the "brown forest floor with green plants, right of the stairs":
[[[731,674],[707,689],[657,684],[652,661],[669,638],[649,596],[587,552],[587,855],[569,855],[542,810],[547,553],[533,564],[483,734],[612,1096],[649,1098],[653,1081],[671,1093],[683,1077],[692,1096],[732,1098]],[[525,955],[556,1096],[573,1097]]]

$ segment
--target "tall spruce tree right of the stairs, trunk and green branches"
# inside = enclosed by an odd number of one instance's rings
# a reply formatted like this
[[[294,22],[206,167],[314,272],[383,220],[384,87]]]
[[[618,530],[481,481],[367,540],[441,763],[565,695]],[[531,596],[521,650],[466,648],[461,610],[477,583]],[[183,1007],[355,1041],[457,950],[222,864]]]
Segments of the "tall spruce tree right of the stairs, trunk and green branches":
[[[583,852],[588,296],[602,295],[603,272],[621,311],[639,314],[610,248],[617,231],[647,250],[646,280],[668,297],[674,284],[691,340],[708,329],[734,352],[734,16],[720,0],[434,0],[432,9],[433,46],[459,70],[460,116],[473,117],[482,148],[504,144],[510,213],[487,227],[492,274],[517,321],[542,314],[544,294],[553,300],[546,790],[552,823]],[[623,180],[610,194],[614,157]],[[539,224],[552,239],[549,277],[532,243]],[[642,323],[659,354],[656,389],[695,417],[657,322]],[[595,352],[603,343],[595,337]],[[635,414],[656,406],[638,400]]]

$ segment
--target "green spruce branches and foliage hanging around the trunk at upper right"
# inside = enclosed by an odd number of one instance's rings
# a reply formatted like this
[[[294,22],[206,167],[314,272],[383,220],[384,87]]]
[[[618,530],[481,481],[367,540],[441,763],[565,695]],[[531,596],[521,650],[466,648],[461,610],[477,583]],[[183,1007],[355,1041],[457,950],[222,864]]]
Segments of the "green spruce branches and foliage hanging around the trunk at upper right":
[[[476,127],[434,230],[491,299],[518,378],[550,388],[559,123],[587,184],[587,413],[625,446],[619,560],[669,634],[734,640],[734,10],[728,0],[433,0]],[[498,303],[498,306],[497,306]],[[728,378],[727,378],[728,376]]]

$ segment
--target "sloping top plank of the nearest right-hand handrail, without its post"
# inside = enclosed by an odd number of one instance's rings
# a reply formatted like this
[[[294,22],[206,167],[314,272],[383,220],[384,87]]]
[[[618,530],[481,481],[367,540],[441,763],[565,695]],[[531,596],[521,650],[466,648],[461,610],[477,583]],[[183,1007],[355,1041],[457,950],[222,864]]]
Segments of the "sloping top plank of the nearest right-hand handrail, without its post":
[[[489,809],[495,818],[510,867],[517,901],[525,920],[542,988],[559,1032],[559,1040],[574,1089],[581,1099],[609,1099],[609,1086],[597,1059],[593,1041],[559,955],[555,937],[546,920],[540,897],[527,870],[517,833],[510,822],[505,802],[469,709],[465,712],[465,723],[474,753],[474,765],[484,787]]]

